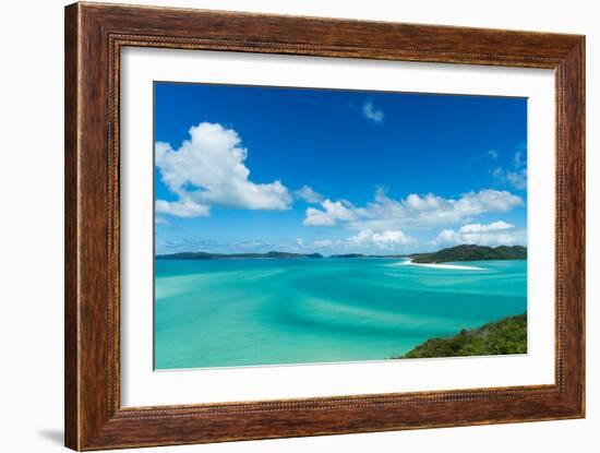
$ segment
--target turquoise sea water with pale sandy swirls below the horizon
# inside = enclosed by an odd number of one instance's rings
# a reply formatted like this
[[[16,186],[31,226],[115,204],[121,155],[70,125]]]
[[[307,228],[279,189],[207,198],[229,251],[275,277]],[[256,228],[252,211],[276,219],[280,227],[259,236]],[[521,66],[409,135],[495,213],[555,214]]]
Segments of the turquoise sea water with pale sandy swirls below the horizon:
[[[157,260],[155,368],[380,360],[527,309],[527,262]]]

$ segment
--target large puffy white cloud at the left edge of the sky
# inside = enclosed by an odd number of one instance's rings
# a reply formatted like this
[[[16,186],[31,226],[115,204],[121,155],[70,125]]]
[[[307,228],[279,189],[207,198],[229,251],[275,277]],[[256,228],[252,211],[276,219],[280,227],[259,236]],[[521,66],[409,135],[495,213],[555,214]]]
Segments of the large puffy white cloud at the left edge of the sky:
[[[190,128],[191,140],[178,150],[155,144],[156,166],[163,182],[179,196],[175,202],[157,200],[156,211],[180,217],[209,215],[214,205],[247,210],[287,210],[292,198],[275,180],[252,182],[244,165],[248,151],[232,129],[202,122]]]

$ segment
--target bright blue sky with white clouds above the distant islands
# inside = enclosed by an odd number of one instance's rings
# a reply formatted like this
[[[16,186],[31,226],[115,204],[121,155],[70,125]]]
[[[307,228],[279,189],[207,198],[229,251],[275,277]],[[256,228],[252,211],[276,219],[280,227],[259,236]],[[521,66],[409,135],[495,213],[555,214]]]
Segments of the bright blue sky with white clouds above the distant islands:
[[[526,245],[527,100],[155,83],[156,253]]]

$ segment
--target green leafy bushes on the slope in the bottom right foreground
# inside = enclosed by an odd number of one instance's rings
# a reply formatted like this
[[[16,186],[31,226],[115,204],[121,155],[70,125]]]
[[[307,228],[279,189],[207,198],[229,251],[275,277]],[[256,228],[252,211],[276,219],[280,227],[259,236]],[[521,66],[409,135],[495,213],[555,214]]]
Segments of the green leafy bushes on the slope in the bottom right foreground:
[[[504,318],[447,338],[430,338],[393,359],[493,356],[527,353],[527,313]]]

